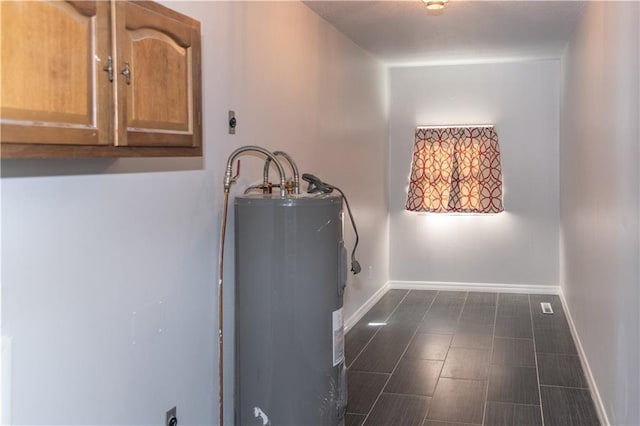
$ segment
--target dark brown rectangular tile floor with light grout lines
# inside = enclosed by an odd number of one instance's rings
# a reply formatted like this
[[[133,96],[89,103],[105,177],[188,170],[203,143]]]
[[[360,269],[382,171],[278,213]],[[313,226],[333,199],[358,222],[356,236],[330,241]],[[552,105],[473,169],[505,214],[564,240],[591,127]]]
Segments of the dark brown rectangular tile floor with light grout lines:
[[[345,351],[347,426],[599,424],[558,296],[390,290]]]

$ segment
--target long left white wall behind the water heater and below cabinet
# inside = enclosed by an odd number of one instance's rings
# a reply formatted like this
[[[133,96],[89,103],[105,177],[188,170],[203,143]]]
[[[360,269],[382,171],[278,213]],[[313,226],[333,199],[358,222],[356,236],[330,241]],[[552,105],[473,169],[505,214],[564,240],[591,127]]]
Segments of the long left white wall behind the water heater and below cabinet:
[[[13,343],[16,424],[162,424],[174,405],[180,424],[217,423],[223,165],[241,145],[288,151],[350,196],[364,272],[349,282],[347,317],[388,279],[384,68],[302,3],[166,4],[202,22],[203,159],[2,162],[2,334]],[[261,160],[242,160],[234,193],[261,176]]]

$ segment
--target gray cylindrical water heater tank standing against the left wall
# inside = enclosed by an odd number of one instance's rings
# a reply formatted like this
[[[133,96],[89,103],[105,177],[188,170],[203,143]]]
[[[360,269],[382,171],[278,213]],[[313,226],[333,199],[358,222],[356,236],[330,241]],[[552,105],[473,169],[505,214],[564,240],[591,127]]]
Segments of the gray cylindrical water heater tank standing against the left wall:
[[[341,425],[342,198],[235,199],[235,423]]]

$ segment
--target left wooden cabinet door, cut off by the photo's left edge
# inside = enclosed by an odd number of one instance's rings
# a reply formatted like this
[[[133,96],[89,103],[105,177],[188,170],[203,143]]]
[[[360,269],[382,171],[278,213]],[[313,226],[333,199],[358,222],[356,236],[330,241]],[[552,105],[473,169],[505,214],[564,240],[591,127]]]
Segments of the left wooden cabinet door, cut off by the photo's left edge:
[[[0,1],[3,156],[14,144],[109,143],[108,24],[102,1]]]

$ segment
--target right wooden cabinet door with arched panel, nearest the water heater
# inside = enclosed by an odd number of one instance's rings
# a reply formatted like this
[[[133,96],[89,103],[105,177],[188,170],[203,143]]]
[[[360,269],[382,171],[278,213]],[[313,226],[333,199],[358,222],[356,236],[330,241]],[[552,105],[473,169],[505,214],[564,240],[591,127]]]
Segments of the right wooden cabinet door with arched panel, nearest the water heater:
[[[116,145],[200,146],[200,23],[152,2],[114,7]]]

